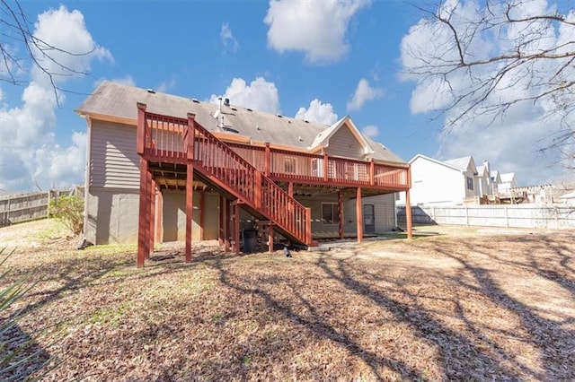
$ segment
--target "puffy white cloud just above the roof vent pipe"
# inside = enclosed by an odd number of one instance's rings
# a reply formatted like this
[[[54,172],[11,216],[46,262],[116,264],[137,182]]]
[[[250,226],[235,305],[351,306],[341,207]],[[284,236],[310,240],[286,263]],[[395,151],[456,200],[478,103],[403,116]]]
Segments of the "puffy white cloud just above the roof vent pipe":
[[[221,97],[243,108],[280,113],[278,88],[274,82],[267,82],[263,77],[257,77],[249,85],[242,78],[234,78]],[[217,103],[217,98],[216,94],[212,94],[209,101]]]

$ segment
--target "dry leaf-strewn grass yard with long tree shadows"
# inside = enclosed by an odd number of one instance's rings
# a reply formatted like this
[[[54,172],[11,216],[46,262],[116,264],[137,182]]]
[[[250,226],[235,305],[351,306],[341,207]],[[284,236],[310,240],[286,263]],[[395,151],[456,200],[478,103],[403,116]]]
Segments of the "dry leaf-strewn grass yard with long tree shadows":
[[[572,231],[204,246],[137,270],[135,247],[76,251],[46,224],[0,230],[14,277],[43,264],[20,330],[57,362],[45,380],[575,379]]]

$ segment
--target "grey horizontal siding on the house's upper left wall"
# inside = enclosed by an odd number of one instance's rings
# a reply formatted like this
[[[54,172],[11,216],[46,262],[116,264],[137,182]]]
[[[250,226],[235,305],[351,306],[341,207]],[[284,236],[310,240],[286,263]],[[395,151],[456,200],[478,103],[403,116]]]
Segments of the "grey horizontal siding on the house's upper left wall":
[[[90,187],[139,189],[136,126],[94,120],[90,148]]]

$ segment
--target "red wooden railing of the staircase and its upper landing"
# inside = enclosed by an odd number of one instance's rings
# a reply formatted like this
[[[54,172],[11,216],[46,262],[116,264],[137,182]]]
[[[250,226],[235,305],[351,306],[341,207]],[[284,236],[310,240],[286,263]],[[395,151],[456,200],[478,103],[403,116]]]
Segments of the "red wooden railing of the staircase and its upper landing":
[[[144,118],[143,132],[138,134],[143,135],[145,154],[173,158],[174,161],[192,160],[194,167],[216,178],[228,192],[250,204],[281,230],[306,245],[312,244],[311,227],[307,224],[311,220],[309,208],[196,123],[193,117],[183,119],[144,113]],[[178,140],[177,147],[181,152],[166,150],[166,145],[176,147]]]

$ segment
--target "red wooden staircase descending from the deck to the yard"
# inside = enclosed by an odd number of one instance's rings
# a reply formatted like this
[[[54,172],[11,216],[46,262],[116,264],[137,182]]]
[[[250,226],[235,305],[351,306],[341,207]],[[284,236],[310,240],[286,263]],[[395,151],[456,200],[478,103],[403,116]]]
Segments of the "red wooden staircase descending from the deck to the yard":
[[[166,120],[169,120],[173,134],[183,138],[183,145],[179,145],[183,155],[173,154],[177,157],[174,159],[193,163],[194,178],[241,204],[245,211],[259,220],[270,221],[274,230],[286,239],[307,247],[317,245],[312,239],[311,209],[297,202],[226,143],[199,125],[195,116],[183,119],[146,112],[143,121],[146,148],[157,152],[153,130]]]

